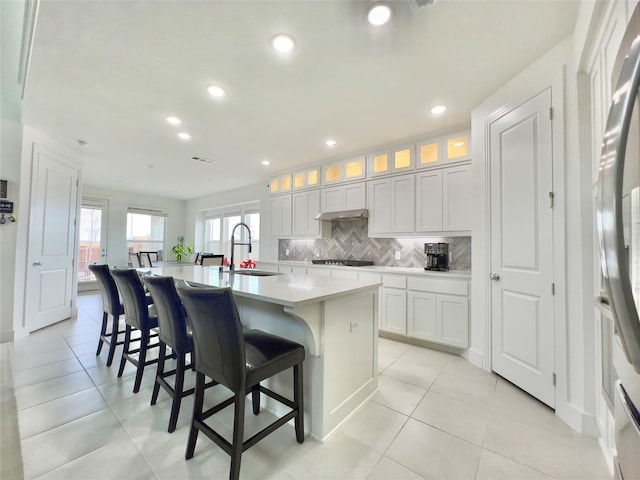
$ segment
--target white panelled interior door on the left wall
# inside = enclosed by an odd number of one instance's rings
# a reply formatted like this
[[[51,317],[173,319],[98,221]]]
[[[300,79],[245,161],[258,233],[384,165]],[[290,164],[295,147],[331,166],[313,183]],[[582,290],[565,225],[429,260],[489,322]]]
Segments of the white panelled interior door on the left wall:
[[[38,145],[33,152],[25,292],[30,332],[71,316],[78,170]]]

